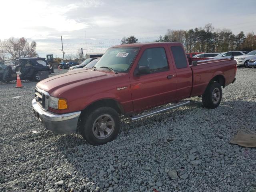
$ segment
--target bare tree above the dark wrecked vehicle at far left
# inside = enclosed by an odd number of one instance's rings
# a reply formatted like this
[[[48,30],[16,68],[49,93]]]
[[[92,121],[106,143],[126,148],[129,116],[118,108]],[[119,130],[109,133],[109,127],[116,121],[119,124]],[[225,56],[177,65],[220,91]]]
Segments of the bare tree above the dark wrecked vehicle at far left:
[[[22,38],[9,38],[3,40],[0,44],[1,49],[5,52],[9,58],[24,58],[24,57],[37,57],[36,42],[32,41],[30,44],[28,41]]]

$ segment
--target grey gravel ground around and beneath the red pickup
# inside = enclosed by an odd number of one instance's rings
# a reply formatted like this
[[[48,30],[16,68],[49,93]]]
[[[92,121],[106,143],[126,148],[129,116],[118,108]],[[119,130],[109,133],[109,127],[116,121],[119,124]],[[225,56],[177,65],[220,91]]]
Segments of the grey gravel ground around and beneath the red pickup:
[[[195,97],[172,112],[123,118],[102,146],[45,130],[32,112],[35,84],[0,83],[0,191],[256,192],[256,148],[229,142],[239,130],[256,133],[256,69],[238,68],[218,108]]]

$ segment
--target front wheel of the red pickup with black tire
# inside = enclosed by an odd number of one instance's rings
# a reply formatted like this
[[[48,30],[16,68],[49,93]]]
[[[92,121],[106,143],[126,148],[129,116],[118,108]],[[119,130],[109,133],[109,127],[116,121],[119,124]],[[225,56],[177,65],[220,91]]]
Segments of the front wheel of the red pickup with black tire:
[[[110,121],[104,121],[105,116],[106,118],[109,118]],[[111,123],[112,121],[114,122],[112,123],[112,126],[107,125],[107,123]],[[93,126],[94,124],[96,125],[95,128]],[[108,128],[108,130],[111,130],[111,132],[108,133],[106,131],[106,128]],[[80,132],[83,138],[92,145],[102,145],[114,140],[119,132],[119,129],[120,119],[118,112],[116,112],[116,110],[111,107],[99,107],[88,111],[86,114],[84,114],[84,117],[82,118],[82,123],[80,125]]]

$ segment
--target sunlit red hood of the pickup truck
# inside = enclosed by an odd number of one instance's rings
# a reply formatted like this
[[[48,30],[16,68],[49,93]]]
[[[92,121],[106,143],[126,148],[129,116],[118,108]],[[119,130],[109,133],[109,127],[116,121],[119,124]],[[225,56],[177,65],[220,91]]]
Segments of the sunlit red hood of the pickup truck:
[[[64,88],[72,84],[72,87],[77,84],[86,84],[87,82],[92,82],[96,80],[104,80],[106,78],[113,77],[114,73],[102,72],[102,71],[93,71],[93,70],[71,70],[68,73],[56,75],[47,79],[44,79],[36,86],[42,90],[47,91],[51,94],[53,91],[58,88]],[[76,85],[75,85],[76,84]],[[67,87],[67,89],[69,89]]]

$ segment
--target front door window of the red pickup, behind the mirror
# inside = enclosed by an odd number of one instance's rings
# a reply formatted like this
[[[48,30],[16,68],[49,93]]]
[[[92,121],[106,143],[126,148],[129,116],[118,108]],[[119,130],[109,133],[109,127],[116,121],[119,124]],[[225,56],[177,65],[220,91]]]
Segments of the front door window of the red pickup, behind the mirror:
[[[148,66],[151,73],[160,72],[169,68],[163,47],[146,49],[143,52],[138,65]]]

